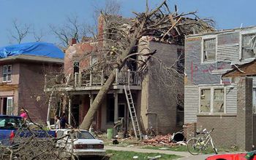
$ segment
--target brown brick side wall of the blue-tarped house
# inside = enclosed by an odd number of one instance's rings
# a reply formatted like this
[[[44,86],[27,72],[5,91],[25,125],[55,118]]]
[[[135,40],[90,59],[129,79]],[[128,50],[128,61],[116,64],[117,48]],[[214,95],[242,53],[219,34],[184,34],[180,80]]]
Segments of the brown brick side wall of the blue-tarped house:
[[[46,122],[48,98],[44,92],[45,74],[60,71],[61,65],[20,63],[18,108],[26,108],[37,122]]]

